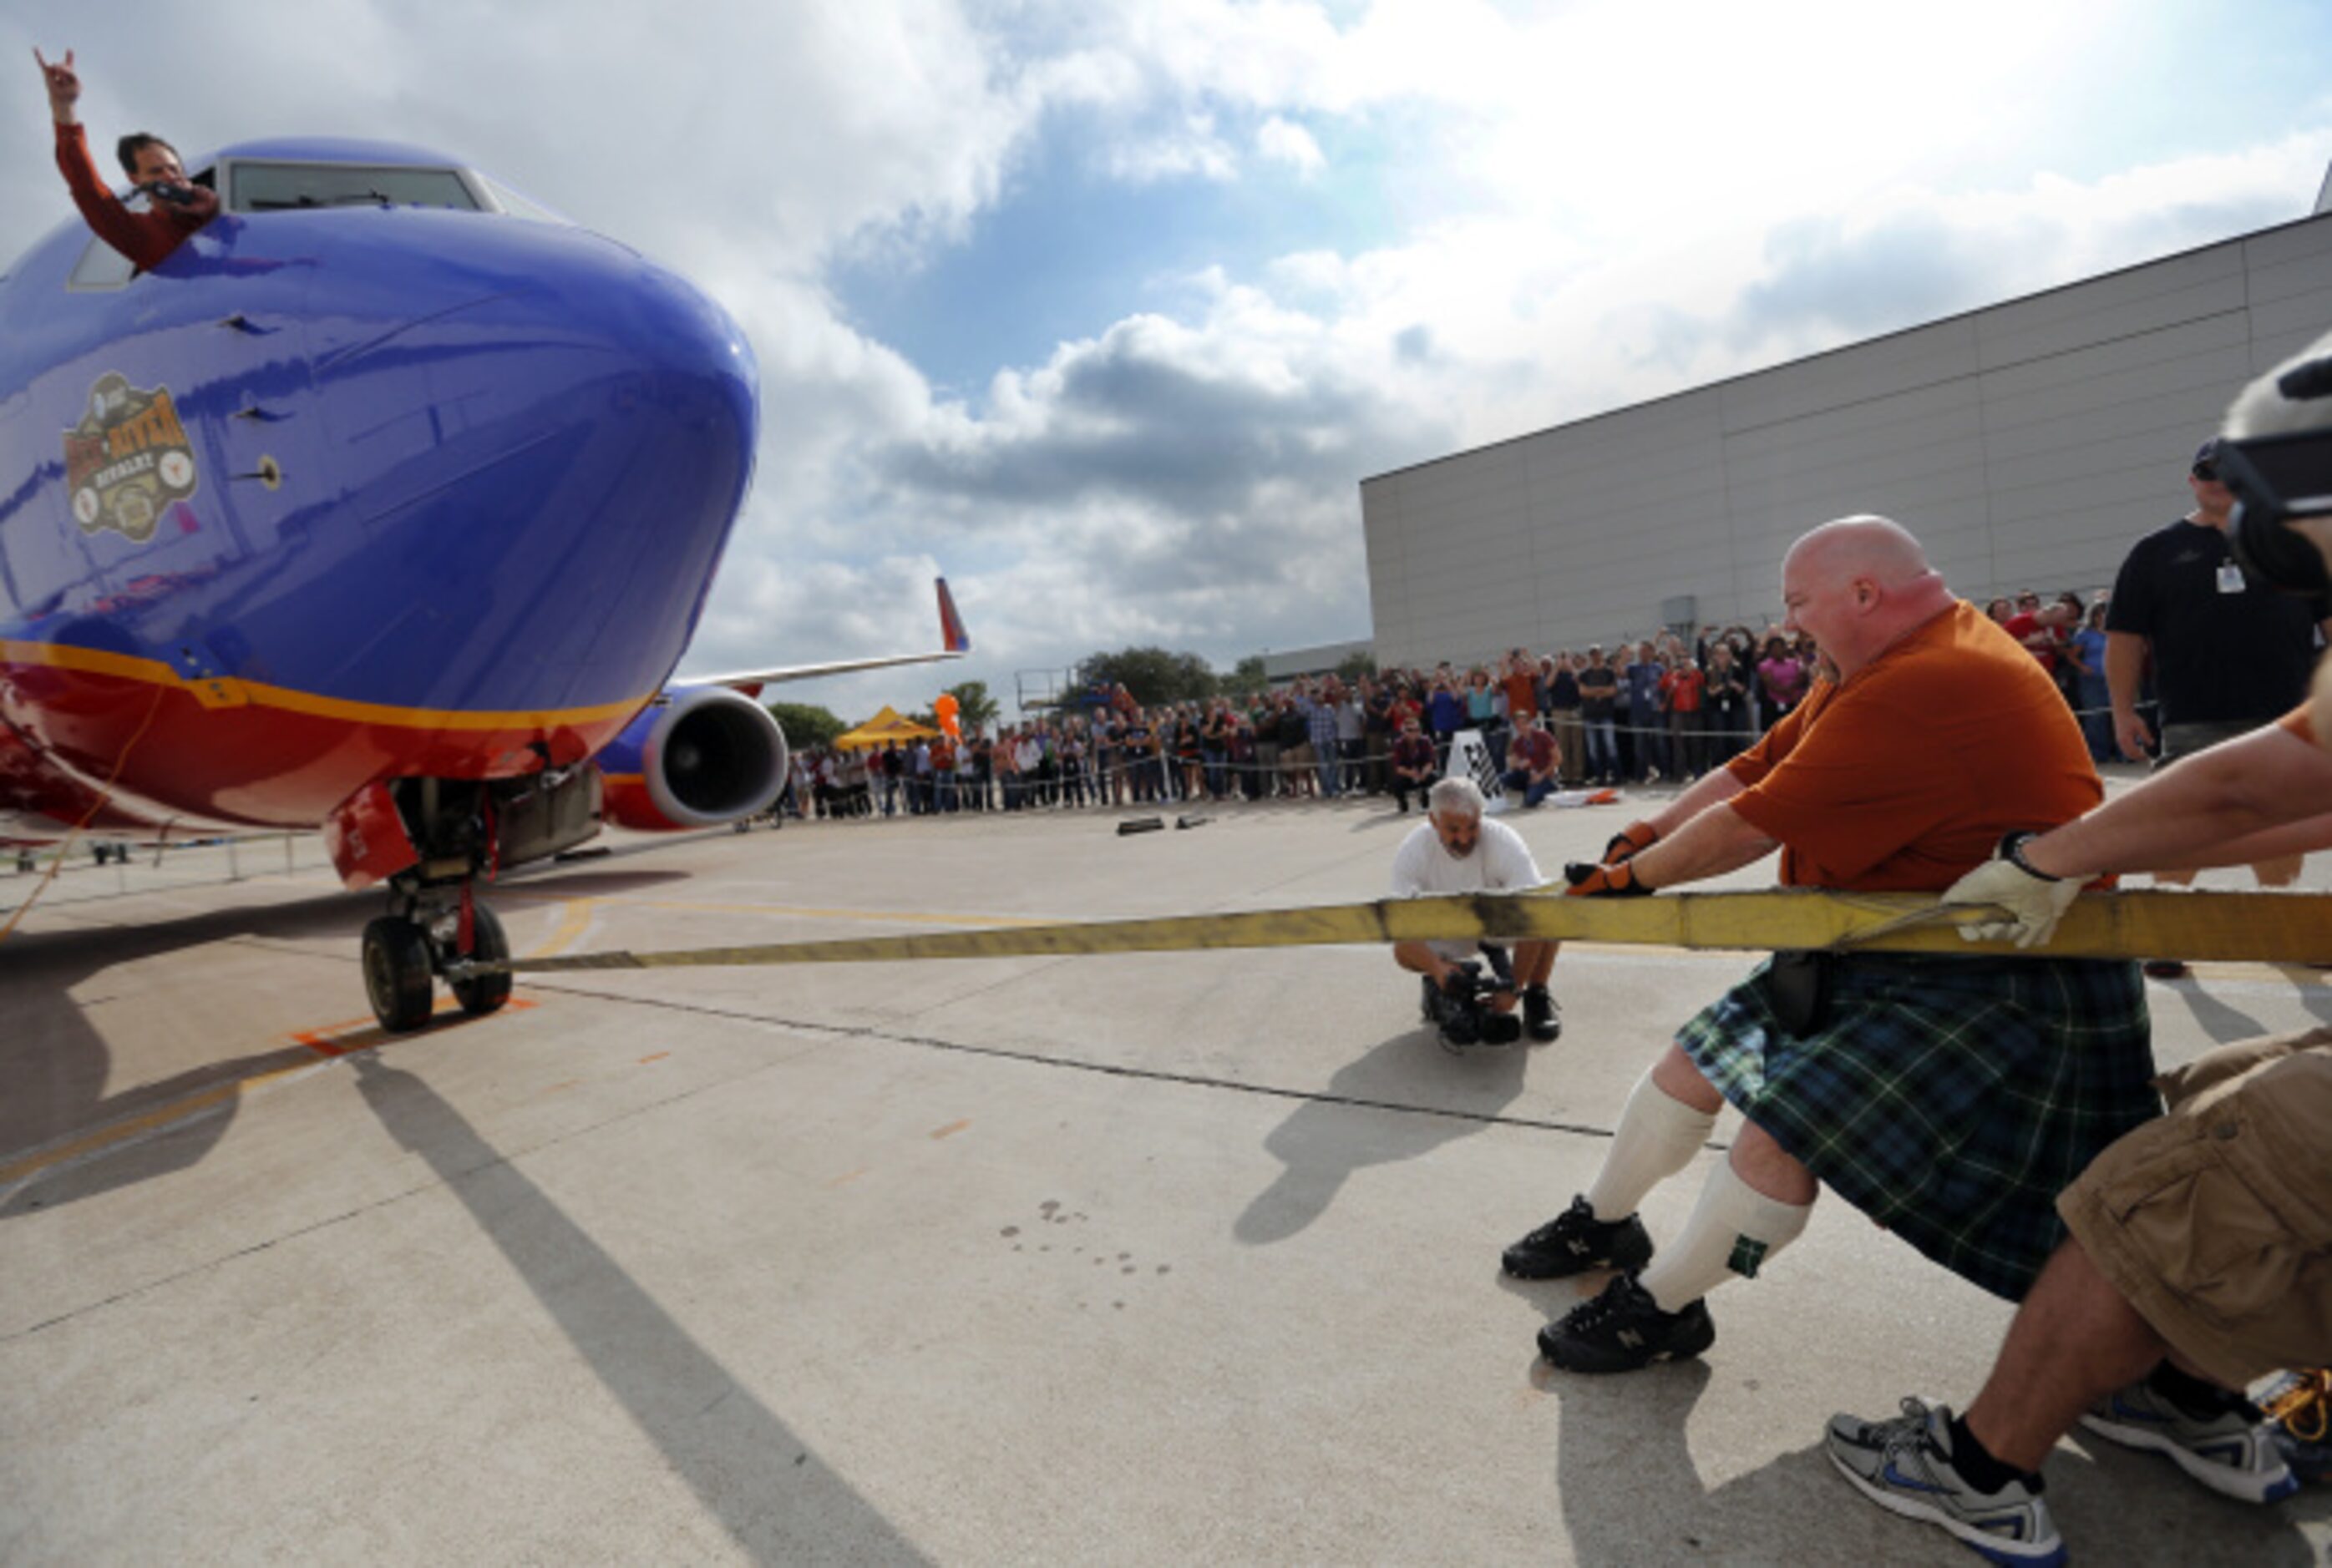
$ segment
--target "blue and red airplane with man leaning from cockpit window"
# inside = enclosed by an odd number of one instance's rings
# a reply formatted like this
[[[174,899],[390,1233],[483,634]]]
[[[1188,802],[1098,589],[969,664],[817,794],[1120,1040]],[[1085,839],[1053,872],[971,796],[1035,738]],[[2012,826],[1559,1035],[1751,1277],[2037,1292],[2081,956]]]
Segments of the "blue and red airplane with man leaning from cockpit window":
[[[777,797],[763,683],[667,685],[753,471],[737,324],[455,158],[278,140],[149,273],[0,277],[0,841],[322,829],[382,1027],[508,953],[473,883]],[[508,976],[455,988],[473,1013]]]

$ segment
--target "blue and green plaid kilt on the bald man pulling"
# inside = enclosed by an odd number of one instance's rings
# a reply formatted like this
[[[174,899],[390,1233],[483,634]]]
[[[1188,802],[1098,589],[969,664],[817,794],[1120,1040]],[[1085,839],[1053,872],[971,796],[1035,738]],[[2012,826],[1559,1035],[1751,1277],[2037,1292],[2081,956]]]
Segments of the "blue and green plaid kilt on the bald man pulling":
[[[1803,1039],[1763,974],[1677,1044],[1824,1186],[1994,1295],[2024,1298],[2064,1239],[2057,1193],[2162,1114],[2134,962],[1842,955]]]

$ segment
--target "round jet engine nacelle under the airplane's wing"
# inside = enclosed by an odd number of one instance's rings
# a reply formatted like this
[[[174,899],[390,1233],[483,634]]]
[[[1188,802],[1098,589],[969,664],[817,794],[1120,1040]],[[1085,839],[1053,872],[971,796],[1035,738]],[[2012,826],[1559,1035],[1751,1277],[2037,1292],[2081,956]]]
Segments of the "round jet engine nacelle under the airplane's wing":
[[[609,822],[641,832],[721,827],[786,787],[786,732],[725,685],[658,697],[599,753]]]

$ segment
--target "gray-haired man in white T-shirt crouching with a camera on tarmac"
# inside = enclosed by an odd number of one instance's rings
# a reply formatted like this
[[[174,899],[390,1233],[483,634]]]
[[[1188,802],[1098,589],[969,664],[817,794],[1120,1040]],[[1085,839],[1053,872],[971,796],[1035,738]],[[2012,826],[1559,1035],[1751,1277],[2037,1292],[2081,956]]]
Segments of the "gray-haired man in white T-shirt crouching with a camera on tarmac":
[[[1530,892],[1546,878],[1530,846],[1504,822],[1485,822],[1471,778],[1444,778],[1427,797],[1427,815],[1392,857],[1392,895]],[[1520,941],[1509,962],[1495,944],[1397,941],[1392,962],[1425,976],[1425,1020],[1441,1044],[1513,1044],[1523,1030],[1546,1041],[1562,1034],[1562,1018],[1546,990],[1555,969],[1553,941]],[[1485,974],[1488,967],[1488,974]],[[1520,1000],[1523,1018],[1513,1018]]]

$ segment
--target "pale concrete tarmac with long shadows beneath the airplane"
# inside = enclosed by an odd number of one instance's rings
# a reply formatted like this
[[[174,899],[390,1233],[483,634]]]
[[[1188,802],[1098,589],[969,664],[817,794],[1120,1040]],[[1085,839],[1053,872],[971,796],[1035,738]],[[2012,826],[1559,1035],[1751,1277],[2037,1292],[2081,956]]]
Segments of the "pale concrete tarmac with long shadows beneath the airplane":
[[[1346,902],[1418,820],[1210,811],[618,839],[492,902],[522,955]],[[1630,815],[1506,820],[1555,874]],[[1691,1363],[1555,1372],[1602,1279],[1499,1277],[1742,955],[1574,944],[1562,1039],[1467,1055],[1381,948],[548,976],[382,1039],[378,897],[238,871],[84,871],[0,946],[0,1561],[1973,1561],[1821,1428],[1964,1405],[2008,1305],[1840,1200]],[[2148,995],[2164,1062],[2332,1018]],[[2082,1561],[2332,1556],[2327,1491],[2047,1477]]]

